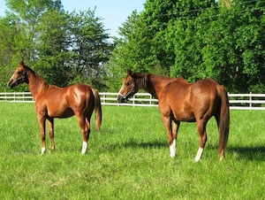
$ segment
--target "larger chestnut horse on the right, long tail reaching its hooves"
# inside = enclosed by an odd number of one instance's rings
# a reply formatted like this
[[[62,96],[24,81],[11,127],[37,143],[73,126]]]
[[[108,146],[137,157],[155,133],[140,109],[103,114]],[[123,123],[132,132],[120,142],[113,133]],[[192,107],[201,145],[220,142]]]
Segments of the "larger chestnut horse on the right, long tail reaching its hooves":
[[[230,112],[227,92],[222,85],[212,79],[191,84],[181,78],[133,73],[130,70],[119,90],[117,101],[125,102],[139,89],[146,90],[158,99],[159,110],[168,134],[171,158],[176,154],[180,121],[186,121],[197,123],[200,146],[195,161],[201,159],[207,141],[206,124],[212,116],[215,116],[219,129],[219,158],[220,160],[224,158],[229,135]]]

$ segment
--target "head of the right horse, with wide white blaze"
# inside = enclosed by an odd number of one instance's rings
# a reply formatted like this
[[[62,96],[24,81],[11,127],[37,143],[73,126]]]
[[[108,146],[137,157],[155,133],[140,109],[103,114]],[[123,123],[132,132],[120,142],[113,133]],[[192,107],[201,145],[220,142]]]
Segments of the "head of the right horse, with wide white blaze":
[[[136,94],[138,90],[139,88],[137,87],[137,84],[135,82],[134,73],[131,70],[128,70],[123,85],[117,95],[118,103],[124,103],[134,94]]]

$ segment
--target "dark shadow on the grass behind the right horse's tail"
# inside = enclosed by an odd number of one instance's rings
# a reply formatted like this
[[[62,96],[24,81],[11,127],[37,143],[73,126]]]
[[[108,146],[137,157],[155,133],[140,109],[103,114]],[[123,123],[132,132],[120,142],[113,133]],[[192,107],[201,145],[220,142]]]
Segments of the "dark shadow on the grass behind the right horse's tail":
[[[216,145],[208,145],[206,148],[211,150],[217,150]],[[239,160],[256,160],[265,161],[265,146],[235,146],[228,145],[226,148],[226,155],[230,154],[230,157]]]

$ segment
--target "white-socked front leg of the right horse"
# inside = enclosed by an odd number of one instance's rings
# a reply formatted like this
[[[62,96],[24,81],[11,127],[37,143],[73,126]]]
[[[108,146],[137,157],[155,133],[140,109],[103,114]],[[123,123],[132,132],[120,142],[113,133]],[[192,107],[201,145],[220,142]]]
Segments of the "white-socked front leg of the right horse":
[[[166,128],[166,131],[167,131],[167,134],[168,134],[168,141],[169,141],[169,144],[170,144],[170,157],[171,158],[175,158],[175,156],[176,156],[176,137],[177,137],[177,134],[172,134],[172,126],[171,126],[170,117],[163,116],[163,125]],[[173,135],[175,135],[175,137]]]

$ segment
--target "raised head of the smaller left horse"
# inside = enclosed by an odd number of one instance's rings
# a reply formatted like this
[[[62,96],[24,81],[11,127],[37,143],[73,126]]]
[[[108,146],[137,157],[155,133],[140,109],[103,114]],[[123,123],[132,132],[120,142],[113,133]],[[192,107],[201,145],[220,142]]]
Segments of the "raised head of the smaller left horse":
[[[27,66],[21,61],[19,67],[16,69],[15,73],[13,73],[7,84],[10,88],[14,88],[23,82],[28,82]]]

